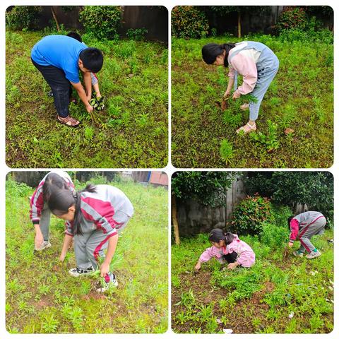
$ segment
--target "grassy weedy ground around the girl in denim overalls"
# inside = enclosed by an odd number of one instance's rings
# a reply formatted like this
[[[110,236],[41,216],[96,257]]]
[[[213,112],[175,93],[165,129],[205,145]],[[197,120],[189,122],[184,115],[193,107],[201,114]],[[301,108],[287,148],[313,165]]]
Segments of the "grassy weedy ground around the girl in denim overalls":
[[[243,40],[246,40],[244,38]],[[280,69],[261,104],[258,131],[237,136],[249,112],[239,102],[220,107],[228,69],[208,66],[208,42],[172,38],[172,162],[175,167],[331,167],[333,163],[333,44],[282,42],[256,35],[275,52]],[[242,79],[238,79],[238,84]],[[285,133],[292,129],[292,133]],[[260,133],[259,133],[260,132]]]

